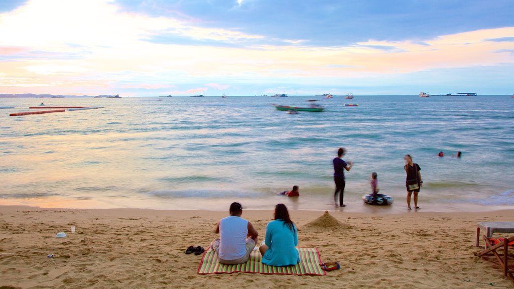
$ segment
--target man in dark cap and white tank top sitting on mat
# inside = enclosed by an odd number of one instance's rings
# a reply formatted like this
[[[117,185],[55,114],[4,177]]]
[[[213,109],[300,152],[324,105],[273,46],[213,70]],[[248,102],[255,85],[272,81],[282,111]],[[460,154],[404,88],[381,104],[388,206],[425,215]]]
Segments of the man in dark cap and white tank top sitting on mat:
[[[247,220],[241,218],[243,207],[240,203],[230,205],[230,216],[219,220],[214,226],[214,232],[219,238],[211,243],[212,249],[218,254],[222,264],[243,264],[248,261],[259,232]]]

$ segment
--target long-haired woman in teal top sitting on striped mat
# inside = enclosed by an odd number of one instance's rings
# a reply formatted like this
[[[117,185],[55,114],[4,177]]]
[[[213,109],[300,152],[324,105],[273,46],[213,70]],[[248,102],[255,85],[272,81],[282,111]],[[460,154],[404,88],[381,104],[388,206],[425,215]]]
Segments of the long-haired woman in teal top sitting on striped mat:
[[[262,262],[271,266],[289,266],[300,262],[298,234],[295,223],[289,219],[289,212],[284,204],[275,206],[273,221],[266,226],[266,237],[259,247]]]

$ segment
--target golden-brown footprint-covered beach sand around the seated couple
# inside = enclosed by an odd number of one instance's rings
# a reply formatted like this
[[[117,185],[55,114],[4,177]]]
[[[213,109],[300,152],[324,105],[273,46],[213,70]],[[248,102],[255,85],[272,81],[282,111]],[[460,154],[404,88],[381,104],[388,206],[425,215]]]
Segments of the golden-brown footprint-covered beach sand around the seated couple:
[[[217,236],[214,224],[228,212],[0,208],[0,288],[514,287],[494,260],[473,255],[480,251],[476,223],[512,221],[511,210],[329,211],[339,226],[323,222],[323,211],[290,211],[299,246],[317,247],[323,261],[341,264],[326,276],[296,276],[197,274],[201,255],[184,252],[190,245],[207,249]],[[263,240],[272,211],[244,210],[243,218]],[[58,232],[67,238],[56,238]]]

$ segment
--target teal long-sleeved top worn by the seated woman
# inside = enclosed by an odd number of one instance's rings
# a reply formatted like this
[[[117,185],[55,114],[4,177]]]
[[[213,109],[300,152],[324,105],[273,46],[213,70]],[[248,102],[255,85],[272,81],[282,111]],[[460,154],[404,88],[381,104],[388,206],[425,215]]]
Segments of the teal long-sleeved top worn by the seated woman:
[[[266,239],[264,241],[269,249],[264,253],[262,262],[271,266],[289,266],[300,262],[298,250],[298,234],[296,226],[292,230],[284,220],[274,220],[266,226]]]

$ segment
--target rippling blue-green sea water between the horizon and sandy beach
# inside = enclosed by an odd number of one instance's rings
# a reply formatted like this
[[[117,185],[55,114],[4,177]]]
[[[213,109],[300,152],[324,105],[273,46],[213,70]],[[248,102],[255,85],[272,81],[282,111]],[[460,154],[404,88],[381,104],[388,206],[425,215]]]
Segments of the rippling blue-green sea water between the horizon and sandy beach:
[[[326,111],[286,114],[271,103]],[[9,116],[51,106],[103,109]],[[332,159],[346,172],[344,211],[406,210],[403,156],[421,167],[424,211],[514,208],[509,96],[0,98],[0,204],[64,208],[334,210]],[[438,157],[439,151],[445,157]],[[452,157],[457,151],[461,158]],[[371,172],[388,207],[365,205]],[[300,187],[301,196],[277,193]]]

